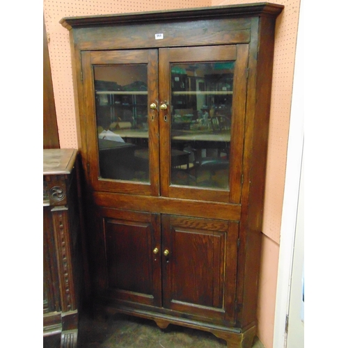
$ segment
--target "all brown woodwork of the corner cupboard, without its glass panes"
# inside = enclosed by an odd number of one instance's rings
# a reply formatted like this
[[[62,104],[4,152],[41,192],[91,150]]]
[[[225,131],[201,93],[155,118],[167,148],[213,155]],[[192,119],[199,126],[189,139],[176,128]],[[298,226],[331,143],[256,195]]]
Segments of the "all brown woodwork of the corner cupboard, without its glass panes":
[[[229,348],[251,347],[282,9],[256,3],[61,20],[73,52],[97,313],[180,324],[212,332]],[[155,40],[156,33],[164,38]],[[228,190],[175,186],[169,177],[171,63],[200,61],[235,61]],[[116,63],[148,66],[148,101],[157,105],[148,108],[150,184],[99,175],[93,66]]]

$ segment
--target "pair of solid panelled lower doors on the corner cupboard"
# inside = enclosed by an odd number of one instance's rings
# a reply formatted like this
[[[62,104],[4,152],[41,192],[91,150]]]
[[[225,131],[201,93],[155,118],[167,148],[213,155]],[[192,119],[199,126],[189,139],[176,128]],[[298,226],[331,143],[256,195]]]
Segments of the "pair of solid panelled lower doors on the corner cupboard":
[[[100,213],[105,255],[96,274],[108,298],[234,324],[237,222],[111,208]]]

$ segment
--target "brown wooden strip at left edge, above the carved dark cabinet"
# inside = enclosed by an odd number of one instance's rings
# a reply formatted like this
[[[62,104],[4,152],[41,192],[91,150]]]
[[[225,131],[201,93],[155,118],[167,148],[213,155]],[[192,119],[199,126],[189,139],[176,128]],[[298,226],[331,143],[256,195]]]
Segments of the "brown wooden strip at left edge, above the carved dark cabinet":
[[[45,19],[43,21],[43,131],[43,148],[59,148],[56,104],[54,104]]]

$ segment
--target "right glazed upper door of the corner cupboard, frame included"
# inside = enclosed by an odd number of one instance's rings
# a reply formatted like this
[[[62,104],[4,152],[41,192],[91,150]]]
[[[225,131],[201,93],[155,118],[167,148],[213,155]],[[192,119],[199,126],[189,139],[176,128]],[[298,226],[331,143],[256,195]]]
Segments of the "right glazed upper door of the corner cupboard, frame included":
[[[239,203],[247,68],[246,44],[159,49],[162,196]]]

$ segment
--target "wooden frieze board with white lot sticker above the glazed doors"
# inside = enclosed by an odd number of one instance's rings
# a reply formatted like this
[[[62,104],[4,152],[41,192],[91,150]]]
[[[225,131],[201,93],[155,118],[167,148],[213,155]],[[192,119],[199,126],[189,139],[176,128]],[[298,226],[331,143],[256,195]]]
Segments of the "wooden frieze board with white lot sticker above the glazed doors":
[[[214,28],[219,26],[221,30]],[[250,20],[236,19],[236,23],[228,19],[211,19],[182,21],[179,26],[173,22],[143,24],[125,24],[122,26],[125,35],[111,39],[113,27],[98,29],[79,28],[74,32],[74,40],[79,49],[131,49],[132,47],[180,47],[194,45],[226,45],[250,41]],[[187,33],[190,35],[187,35]],[[155,40],[155,33],[163,33],[163,40]],[[84,40],[88,36],[88,40]]]

